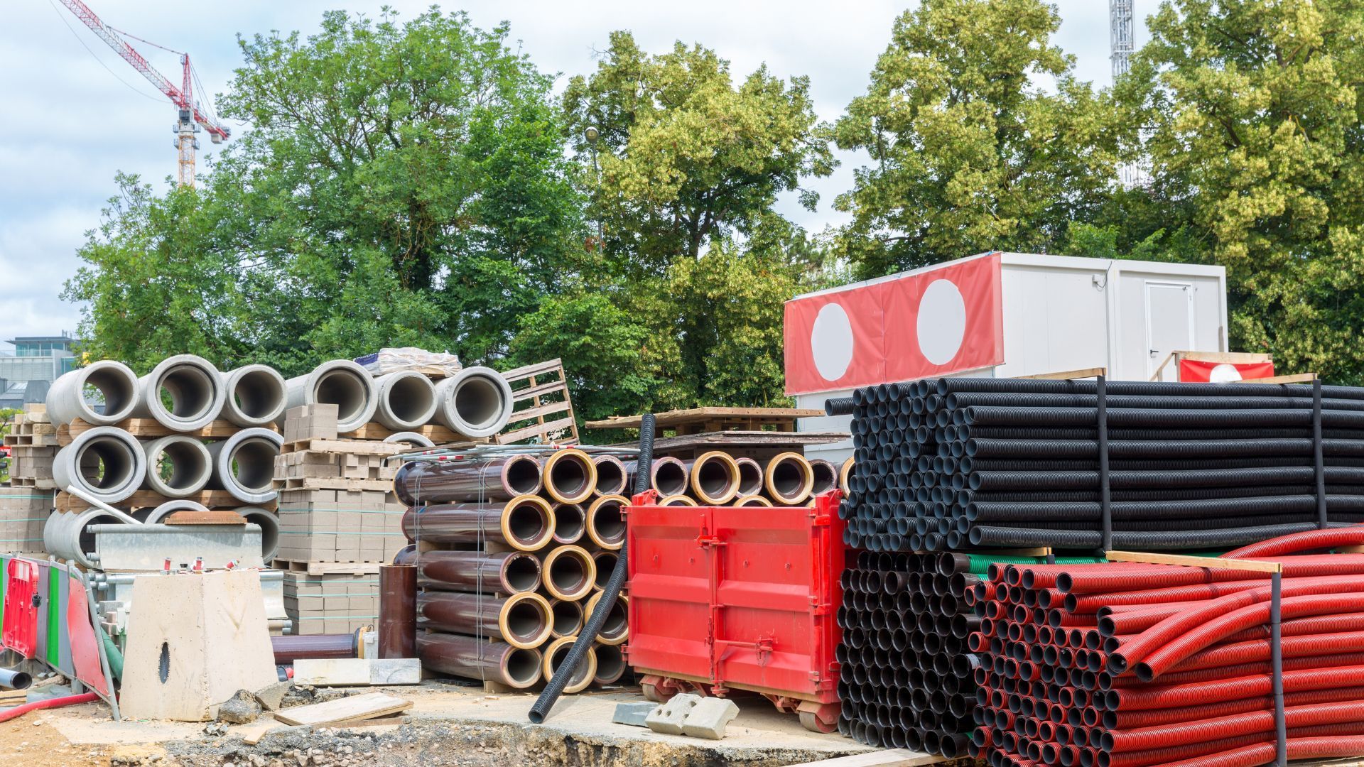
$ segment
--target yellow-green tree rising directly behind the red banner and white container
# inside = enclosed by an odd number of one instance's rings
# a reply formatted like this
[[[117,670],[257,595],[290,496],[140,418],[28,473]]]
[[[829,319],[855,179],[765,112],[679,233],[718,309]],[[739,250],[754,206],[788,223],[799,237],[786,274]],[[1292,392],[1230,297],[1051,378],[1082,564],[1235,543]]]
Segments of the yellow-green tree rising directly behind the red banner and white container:
[[[1042,0],[923,0],[895,20],[836,126],[872,165],[835,207],[839,251],[872,277],[988,250],[1054,252],[1106,201],[1110,108],[1050,42]],[[1053,87],[1046,87],[1053,86]]]

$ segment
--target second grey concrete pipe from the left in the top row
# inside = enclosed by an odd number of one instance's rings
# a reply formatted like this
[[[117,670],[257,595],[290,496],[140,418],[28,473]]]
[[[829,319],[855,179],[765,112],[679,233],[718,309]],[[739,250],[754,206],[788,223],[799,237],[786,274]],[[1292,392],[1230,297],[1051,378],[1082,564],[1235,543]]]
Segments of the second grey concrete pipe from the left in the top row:
[[[175,355],[138,378],[135,418],[150,418],[170,431],[195,431],[222,414],[222,374],[195,355]]]

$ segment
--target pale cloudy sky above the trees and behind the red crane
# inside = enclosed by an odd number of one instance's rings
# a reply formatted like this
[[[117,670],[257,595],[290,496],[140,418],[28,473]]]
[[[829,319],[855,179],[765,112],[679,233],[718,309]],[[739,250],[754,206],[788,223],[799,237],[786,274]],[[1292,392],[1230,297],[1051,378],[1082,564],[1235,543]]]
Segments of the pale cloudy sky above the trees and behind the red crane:
[[[188,50],[199,79],[221,93],[240,64],[236,34],[300,30],[308,34],[325,10],[378,15],[379,0],[87,0],[117,29],[176,50]],[[427,1],[390,0],[405,18]],[[640,3],[597,0],[502,0],[446,3],[473,23],[512,25],[512,40],[547,72],[593,68],[593,50],[607,34],[629,29],[640,45],[662,52],[674,40],[701,42],[731,61],[737,76],[767,63],[777,76],[809,75],[820,117],[835,120],[866,87],[868,74],[889,40],[891,22],[914,0],[693,0]],[[60,300],[61,284],[79,261],[75,248],[100,221],[117,171],[138,173],[164,188],[175,172],[175,111],[127,63],[56,0],[5,3],[0,23],[0,340],[74,330],[79,307]],[[1057,42],[1078,59],[1078,72],[1109,83],[1108,3],[1058,0]],[[1150,7],[1146,7],[1150,5]],[[1155,0],[1138,3],[1142,19]],[[83,44],[83,45],[82,45]],[[175,55],[134,42],[179,82]],[[89,48],[89,50],[87,50]],[[123,81],[123,82],[120,82]],[[235,134],[246,126],[229,124]],[[205,147],[213,147],[203,141]],[[854,154],[829,179],[814,182],[820,209],[794,199],[782,212],[812,231],[840,221],[833,197],[851,186]],[[0,345],[0,349],[10,349]]]

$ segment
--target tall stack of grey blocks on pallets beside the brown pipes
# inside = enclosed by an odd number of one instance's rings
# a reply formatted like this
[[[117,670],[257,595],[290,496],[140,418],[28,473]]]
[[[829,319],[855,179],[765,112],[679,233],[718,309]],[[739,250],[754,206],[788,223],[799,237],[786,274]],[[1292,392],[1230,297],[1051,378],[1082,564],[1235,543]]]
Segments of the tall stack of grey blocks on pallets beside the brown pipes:
[[[406,445],[341,438],[334,404],[289,409],[276,459],[285,613],[295,632],[344,633],[378,618],[379,565],[406,545],[393,495]]]

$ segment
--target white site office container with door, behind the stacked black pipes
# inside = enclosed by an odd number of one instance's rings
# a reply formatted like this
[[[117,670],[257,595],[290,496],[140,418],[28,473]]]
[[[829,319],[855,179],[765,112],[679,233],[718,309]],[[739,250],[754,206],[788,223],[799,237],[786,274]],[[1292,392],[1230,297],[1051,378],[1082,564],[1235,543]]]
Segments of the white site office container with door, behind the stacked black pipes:
[[[982,254],[973,258],[985,258]],[[1000,310],[1003,363],[951,375],[1034,375],[1103,367],[1112,379],[1147,381],[1174,351],[1225,352],[1226,270],[1221,266],[1001,252]],[[851,291],[911,274],[926,274],[966,259],[917,269],[817,293]],[[923,340],[925,321],[919,323]],[[926,322],[932,323],[932,318]],[[929,325],[932,330],[932,325]],[[960,330],[958,330],[960,333]],[[792,343],[788,329],[788,344]],[[791,371],[788,352],[787,375]],[[1161,370],[1173,379],[1174,366]],[[889,381],[883,381],[889,382]],[[824,408],[824,400],[851,389],[795,394],[801,408]],[[801,431],[846,431],[850,416],[801,419]],[[842,460],[851,441],[806,449],[812,457]]]

